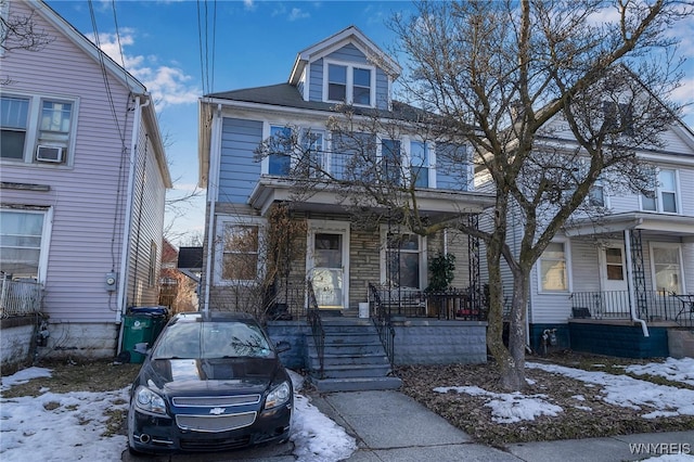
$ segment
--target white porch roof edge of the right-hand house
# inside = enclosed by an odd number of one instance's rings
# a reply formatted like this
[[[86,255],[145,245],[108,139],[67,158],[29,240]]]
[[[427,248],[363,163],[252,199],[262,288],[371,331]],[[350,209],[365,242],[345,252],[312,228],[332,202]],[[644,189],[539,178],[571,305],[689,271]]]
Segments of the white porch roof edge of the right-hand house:
[[[682,242],[694,242],[694,217],[682,215],[630,211],[604,217],[575,220],[566,227],[566,235],[609,234],[625,230],[642,230],[660,235],[673,235]]]

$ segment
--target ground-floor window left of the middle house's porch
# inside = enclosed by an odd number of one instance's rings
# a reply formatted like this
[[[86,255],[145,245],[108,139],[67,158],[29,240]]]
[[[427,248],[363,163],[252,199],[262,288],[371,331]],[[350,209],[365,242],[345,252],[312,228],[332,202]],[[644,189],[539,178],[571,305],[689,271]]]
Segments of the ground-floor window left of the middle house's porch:
[[[255,281],[258,277],[259,235],[256,224],[224,223],[221,279]]]

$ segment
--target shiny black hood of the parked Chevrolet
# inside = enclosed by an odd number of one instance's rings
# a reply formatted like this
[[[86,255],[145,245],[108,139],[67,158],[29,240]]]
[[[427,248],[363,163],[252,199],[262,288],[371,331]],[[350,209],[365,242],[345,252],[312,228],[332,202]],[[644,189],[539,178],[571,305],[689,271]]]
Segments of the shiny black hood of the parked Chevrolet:
[[[277,359],[154,359],[142,376],[167,394],[206,392],[262,393],[282,369]]]

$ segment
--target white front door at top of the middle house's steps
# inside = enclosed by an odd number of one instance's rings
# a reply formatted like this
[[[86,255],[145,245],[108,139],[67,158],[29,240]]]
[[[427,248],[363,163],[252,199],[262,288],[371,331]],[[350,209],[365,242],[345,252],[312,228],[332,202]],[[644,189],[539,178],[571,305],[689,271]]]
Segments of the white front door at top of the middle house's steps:
[[[335,226],[311,228],[309,233],[309,277],[320,309],[347,306],[348,236],[347,230]]]

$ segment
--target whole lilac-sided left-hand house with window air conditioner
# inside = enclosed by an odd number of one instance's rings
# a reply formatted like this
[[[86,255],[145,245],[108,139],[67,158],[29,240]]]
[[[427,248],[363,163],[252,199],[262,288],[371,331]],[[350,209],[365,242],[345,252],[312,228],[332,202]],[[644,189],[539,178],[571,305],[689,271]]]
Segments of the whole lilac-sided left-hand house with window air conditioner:
[[[49,38],[2,38],[0,269],[41,287],[41,356],[114,357],[126,309],[158,303],[171,180],[154,103],[46,3],[0,4]]]

